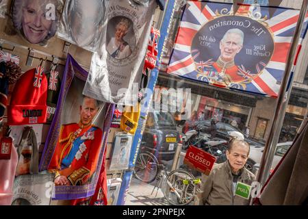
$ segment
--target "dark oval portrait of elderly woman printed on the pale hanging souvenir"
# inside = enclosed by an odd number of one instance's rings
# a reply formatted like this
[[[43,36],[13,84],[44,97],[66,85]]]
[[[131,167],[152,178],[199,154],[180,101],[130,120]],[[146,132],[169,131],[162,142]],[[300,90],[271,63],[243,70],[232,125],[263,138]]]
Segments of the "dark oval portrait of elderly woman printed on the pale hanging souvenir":
[[[135,49],[133,22],[125,16],[116,16],[107,26],[107,52],[117,60],[129,57]]]

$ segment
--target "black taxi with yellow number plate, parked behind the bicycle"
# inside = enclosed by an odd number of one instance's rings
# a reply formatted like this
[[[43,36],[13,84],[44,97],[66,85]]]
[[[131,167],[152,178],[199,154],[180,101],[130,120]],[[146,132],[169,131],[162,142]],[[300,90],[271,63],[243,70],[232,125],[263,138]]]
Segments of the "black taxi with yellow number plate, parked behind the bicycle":
[[[149,112],[140,144],[141,151],[153,153],[159,161],[170,161],[182,136],[177,131],[175,119],[168,112]]]

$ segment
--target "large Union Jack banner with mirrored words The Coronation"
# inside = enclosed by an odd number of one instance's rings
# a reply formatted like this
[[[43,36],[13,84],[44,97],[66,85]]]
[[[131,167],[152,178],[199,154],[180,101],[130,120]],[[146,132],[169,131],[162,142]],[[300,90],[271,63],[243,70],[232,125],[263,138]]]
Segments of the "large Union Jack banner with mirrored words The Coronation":
[[[188,1],[168,73],[277,97],[298,10]]]

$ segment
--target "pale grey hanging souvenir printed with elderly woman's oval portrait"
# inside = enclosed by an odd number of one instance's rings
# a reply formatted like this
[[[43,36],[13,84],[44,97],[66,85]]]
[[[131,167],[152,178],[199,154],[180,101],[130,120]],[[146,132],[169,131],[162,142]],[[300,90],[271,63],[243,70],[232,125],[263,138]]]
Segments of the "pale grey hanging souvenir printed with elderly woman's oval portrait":
[[[83,94],[99,101],[133,105],[138,100],[144,57],[157,4],[109,1],[99,51],[92,64]],[[120,88],[120,89],[119,89]]]

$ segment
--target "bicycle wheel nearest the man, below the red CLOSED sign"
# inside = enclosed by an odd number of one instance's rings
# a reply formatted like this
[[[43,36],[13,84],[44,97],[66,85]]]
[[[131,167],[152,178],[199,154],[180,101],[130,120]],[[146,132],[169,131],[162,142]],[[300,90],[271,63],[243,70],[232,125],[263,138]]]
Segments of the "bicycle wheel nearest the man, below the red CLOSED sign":
[[[173,170],[163,182],[163,193],[171,205],[188,205],[194,199],[194,176],[185,170]]]

